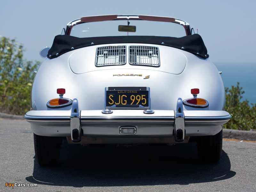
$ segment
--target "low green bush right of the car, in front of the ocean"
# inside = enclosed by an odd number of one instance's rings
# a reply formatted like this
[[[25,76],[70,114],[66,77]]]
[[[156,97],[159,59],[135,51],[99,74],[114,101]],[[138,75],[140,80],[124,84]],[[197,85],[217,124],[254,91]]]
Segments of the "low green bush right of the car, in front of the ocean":
[[[237,130],[256,129],[256,104],[251,107],[248,100],[240,102],[244,91],[242,91],[242,87],[239,87],[239,83],[237,82],[237,85],[232,86],[231,89],[225,88],[225,92],[226,111],[229,112],[232,119],[224,125],[224,128]]]

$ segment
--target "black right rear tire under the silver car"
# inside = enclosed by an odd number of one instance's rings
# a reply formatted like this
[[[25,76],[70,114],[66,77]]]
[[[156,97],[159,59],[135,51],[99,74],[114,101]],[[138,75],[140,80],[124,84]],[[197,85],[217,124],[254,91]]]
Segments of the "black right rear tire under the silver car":
[[[198,158],[205,163],[215,163],[220,160],[222,152],[222,129],[213,136],[197,138]]]

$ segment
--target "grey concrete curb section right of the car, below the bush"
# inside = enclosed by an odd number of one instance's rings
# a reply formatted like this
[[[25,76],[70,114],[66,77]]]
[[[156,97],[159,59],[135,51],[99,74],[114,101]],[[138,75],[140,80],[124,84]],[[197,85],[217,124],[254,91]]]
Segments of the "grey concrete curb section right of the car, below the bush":
[[[256,131],[223,129],[223,138],[256,141]]]

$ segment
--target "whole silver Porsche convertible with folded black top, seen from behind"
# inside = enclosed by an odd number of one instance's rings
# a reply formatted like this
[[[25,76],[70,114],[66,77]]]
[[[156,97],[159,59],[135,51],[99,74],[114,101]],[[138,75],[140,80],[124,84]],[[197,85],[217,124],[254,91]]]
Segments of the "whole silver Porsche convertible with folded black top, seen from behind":
[[[197,142],[217,162],[225,110],[220,72],[200,35],[183,20],[100,15],[68,23],[38,69],[31,110],[36,160],[59,160],[63,137],[76,144]]]

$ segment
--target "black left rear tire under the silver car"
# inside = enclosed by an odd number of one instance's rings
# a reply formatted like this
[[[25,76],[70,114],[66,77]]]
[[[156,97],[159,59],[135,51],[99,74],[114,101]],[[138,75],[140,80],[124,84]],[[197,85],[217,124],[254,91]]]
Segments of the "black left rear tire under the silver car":
[[[36,161],[41,166],[56,165],[60,158],[61,137],[40,136],[34,133]]]

